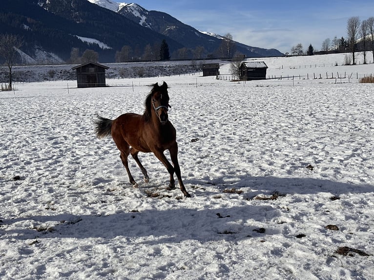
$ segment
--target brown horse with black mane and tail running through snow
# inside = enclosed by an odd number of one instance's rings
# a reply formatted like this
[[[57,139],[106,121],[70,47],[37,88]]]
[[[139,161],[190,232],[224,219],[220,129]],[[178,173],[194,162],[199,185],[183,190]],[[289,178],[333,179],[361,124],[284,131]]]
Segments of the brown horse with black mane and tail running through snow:
[[[138,158],[138,153],[152,152],[166,167],[170,174],[169,188],[175,188],[174,173],[177,175],[179,186],[185,197],[191,197],[187,192],[178,163],[178,144],[176,141],[176,131],[168,120],[167,111],[169,96],[167,94],[167,84],[164,81],[162,86],[158,83],[153,85],[152,90],[145,99],[145,112],[143,115],[127,113],[119,116],[115,120],[109,120],[98,116],[95,121],[96,136],[104,138],[111,135],[117,148],[121,152],[121,160],[125,165],[128,179],[134,187],[138,187],[128,168],[127,157],[129,154],[139,165],[144,175],[144,181],[149,182],[149,177],[144,166]],[[169,150],[170,159],[174,167],[166,159],[164,151]]]

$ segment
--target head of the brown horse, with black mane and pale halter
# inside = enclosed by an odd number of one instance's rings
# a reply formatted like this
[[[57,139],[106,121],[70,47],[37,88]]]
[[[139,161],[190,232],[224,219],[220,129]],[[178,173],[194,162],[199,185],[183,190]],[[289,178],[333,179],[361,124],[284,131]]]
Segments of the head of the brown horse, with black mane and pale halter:
[[[167,111],[169,107],[171,108],[169,105],[169,95],[167,94],[167,84],[165,81],[162,86],[159,86],[158,83],[153,85],[151,93],[149,94],[149,101],[151,110],[153,109],[160,122],[165,124],[168,118]]]

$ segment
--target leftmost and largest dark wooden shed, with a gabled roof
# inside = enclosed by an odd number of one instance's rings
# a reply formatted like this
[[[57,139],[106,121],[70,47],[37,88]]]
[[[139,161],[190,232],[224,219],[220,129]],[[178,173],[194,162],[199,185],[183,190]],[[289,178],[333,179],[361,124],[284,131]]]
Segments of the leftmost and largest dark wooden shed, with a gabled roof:
[[[71,68],[77,71],[78,87],[103,87],[105,83],[105,70],[108,66],[87,62]]]

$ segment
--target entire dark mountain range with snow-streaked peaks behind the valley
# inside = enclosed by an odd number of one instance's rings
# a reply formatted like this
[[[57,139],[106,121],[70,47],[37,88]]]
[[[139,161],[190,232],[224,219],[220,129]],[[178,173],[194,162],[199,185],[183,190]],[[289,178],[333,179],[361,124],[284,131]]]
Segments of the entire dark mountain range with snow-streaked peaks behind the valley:
[[[222,37],[200,32],[166,13],[112,0],[1,0],[0,34],[4,33],[22,37],[21,63],[69,61],[73,48],[80,56],[86,49],[94,50],[100,62],[114,62],[124,47],[127,59],[122,61],[157,59],[163,40],[174,59],[180,50],[192,58],[198,46],[204,47],[203,57],[217,57],[222,42]],[[248,57],[282,55],[239,42],[236,51]]]

